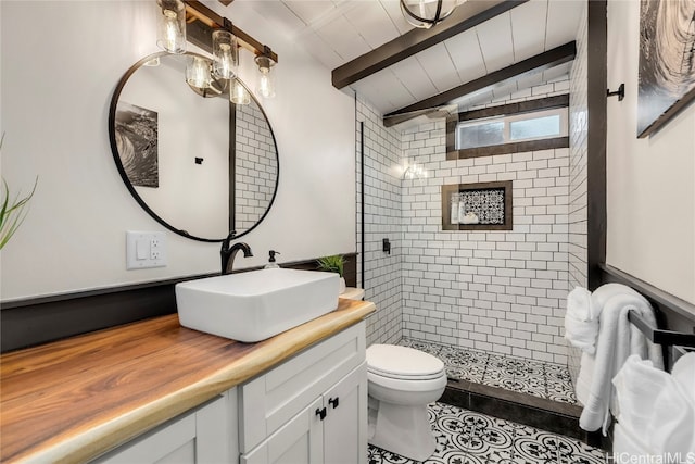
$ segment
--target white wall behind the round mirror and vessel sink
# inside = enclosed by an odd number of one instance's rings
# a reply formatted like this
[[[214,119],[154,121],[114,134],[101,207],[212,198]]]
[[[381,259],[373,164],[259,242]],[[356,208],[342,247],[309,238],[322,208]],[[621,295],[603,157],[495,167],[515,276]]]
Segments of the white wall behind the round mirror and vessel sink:
[[[278,37],[248,3],[211,8],[279,55],[277,98],[264,103],[280,153],[278,197],[243,240],[261,265],[355,250],[354,100],[330,72]],[[218,271],[219,244],[167,233],[168,266],[126,271],[125,231],[162,230],[123,185],[109,146],[114,87],[157,51],[154,1],[2,1],[2,176],[39,186],[1,252],[1,299],[55,294]],[[255,77],[242,52],[241,76]],[[253,85],[251,86],[254,87]]]

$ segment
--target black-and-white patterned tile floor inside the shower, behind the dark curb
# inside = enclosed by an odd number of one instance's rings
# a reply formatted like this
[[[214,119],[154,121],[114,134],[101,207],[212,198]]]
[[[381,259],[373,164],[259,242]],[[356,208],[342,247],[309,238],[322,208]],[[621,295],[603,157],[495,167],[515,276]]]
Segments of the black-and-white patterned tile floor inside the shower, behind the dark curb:
[[[577,402],[566,366],[404,338],[400,344],[430,353],[444,363],[446,375],[563,403]]]

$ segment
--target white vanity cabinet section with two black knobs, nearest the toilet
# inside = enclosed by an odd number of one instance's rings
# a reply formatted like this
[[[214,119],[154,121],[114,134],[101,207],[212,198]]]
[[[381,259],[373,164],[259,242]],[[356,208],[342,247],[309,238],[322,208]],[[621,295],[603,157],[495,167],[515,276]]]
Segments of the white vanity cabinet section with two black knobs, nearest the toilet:
[[[239,388],[242,464],[367,462],[364,322]]]

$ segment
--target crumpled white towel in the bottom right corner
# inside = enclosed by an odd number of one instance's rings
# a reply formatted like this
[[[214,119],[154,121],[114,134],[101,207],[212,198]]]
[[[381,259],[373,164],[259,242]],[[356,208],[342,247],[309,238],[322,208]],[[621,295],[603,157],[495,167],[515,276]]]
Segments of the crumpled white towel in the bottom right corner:
[[[695,451],[695,353],[681,358],[672,375],[631,355],[612,384],[620,410],[615,453],[684,457]]]

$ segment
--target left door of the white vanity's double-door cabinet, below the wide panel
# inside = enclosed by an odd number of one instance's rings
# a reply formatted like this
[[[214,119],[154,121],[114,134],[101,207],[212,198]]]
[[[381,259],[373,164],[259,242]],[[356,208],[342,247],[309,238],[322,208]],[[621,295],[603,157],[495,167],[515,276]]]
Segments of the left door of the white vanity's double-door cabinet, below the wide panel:
[[[325,421],[321,422],[318,414],[323,407],[323,399],[318,398],[252,451],[242,454],[240,463],[323,463]]]

